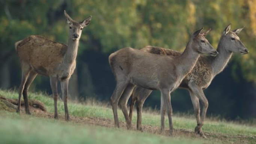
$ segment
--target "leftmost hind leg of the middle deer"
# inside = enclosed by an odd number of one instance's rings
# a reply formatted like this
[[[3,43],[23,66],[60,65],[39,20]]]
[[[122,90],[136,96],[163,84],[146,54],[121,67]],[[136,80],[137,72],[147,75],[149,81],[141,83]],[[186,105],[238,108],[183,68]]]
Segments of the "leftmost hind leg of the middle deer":
[[[122,93],[124,92],[124,89],[128,85],[128,80],[125,80],[123,82],[119,82],[117,80],[116,88],[110,98],[110,103],[112,105],[113,115],[114,115],[114,121],[115,121],[115,127],[119,128],[119,121],[118,121],[118,113],[117,113],[117,107],[118,107],[118,101],[121,97]]]

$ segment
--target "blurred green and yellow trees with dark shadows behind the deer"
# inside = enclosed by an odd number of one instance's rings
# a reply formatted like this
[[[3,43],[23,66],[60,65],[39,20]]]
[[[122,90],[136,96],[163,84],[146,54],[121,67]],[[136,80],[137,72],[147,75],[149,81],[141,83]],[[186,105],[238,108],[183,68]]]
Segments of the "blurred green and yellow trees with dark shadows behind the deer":
[[[147,45],[183,51],[193,31],[212,28],[207,36],[216,48],[222,31],[244,27],[240,39],[249,54],[234,54],[228,67],[205,90],[208,114],[228,119],[256,117],[256,1],[255,0],[0,0],[0,88],[18,88],[21,70],[14,43],[42,35],[67,43],[64,9],[75,20],[92,15],[83,30],[70,96],[109,101],[115,79],[108,56],[115,50]],[[38,76],[30,91],[51,95],[49,78]],[[158,108],[159,92],[145,102]],[[185,90],[172,94],[174,113],[192,112]]]

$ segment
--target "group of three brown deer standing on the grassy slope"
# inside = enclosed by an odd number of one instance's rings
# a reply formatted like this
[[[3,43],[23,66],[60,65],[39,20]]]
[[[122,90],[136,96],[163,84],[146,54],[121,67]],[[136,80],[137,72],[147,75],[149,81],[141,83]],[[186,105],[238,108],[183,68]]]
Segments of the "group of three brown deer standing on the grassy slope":
[[[58,119],[58,80],[63,94],[65,120],[69,120],[67,95],[68,81],[76,67],[76,56],[83,27],[89,25],[91,16],[82,22],[74,21],[65,11],[69,25],[68,44],[54,42],[42,36],[29,36],[15,43],[21,63],[22,78],[19,86],[17,112],[21,111],[21,95],[25,113],[30,114],[28,88],[37,74],[50,77],[54,99],[54,118]],[[142,107],[152,90],[161,92],[161,132],[164,132],[164,116],[167,112],[170,134],[174,133],[171,92],[177,88],[189,91],[196,115],[196,134],[205,138],[202,131],[208,101],[203,90],[227,65],[232,53],[247,54],[249,50],[237,36],[243,28],[231,31],[229,24],[221,34],[217,50],[205,38],[210,30],[195,31],[183,52],[155,46],[143,49],[123,48],[109,56],[109,64],[116,79],[116,88],[111,96],[115,127],[119,128],[118,104],[124,114],[127,128],[131,129],[132,112],[137,102],[137,130],[142,131]],[[205,54],[205,55],[201,55]],[[127,102],[131,97],[128,113]],[[200,104],[202,111],[200,111]],[[201,113],[201,116],[200,116]]]

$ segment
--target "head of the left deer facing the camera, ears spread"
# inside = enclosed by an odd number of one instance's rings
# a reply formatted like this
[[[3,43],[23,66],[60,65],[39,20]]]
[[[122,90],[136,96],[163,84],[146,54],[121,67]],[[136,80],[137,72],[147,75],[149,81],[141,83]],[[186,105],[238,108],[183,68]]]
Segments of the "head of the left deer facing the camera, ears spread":
[[[82,22],[74,21],[64,10],[64,14],[67,18],[67,23],[69,24],[69,38],[73,41],[79,40],[81,37],[83,27],[86,27],[91,22],[92,16],[89,16]]]

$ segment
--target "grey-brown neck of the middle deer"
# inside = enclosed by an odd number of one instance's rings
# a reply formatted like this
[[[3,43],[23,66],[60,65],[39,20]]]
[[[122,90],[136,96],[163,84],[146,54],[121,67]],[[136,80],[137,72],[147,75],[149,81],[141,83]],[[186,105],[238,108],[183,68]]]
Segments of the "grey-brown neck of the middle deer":
[[[176,64],[180,76],[185,76],[188,74],[195,66],[198,58],[199,53],[193,49],[193,45],[189,41],[184,52],[179,57],[177,57]]]

